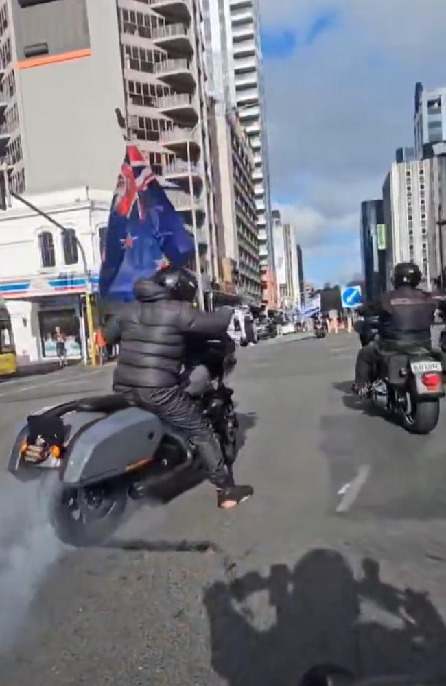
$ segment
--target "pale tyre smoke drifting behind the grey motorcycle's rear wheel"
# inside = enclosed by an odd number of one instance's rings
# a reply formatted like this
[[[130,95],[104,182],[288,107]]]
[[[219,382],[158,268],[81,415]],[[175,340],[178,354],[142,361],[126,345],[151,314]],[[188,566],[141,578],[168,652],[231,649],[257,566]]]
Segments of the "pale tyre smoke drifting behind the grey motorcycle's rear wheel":
[[[38,481],[8,476],[0,484],[0,652],[14,643],[45,572],[64,549],[46,504]]]

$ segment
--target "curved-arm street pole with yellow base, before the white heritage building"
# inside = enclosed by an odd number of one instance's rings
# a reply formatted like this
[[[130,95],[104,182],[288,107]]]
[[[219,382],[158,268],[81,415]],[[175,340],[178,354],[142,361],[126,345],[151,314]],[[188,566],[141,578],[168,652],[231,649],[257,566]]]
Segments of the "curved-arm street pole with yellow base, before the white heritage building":
[[[28,209],[32,210],[36,214],[40,215],[40,217],[43,217],[47,222],[50,224],[54,224],[54,226],[57,226],[57,228],[62,232],[62,235],[66,233],[67,229],[62,226],[62,224],[59,224],[59,222],[56,222],[56,220],[51,217],[51,215],[47,214],[43,210],[38,209],[36,205],[32,204],[29,200],[25,200],[22,196],[19,196],[19,193],[14,193],[10,189],[10,180],[9,180],[9,174],[10,174],[11,168],[8,167],[6,163],[3,162],[3,164],[0,167],[0,209],[6,210],[10,208],[11,206],[11,198],[15,198],[21,204],[27,206]],[[75,237],[76,244],[78,246],[81,258],[82,258],[82,265],[84,268],[84,274],[85,274],[85,279],[86,279],[86,292],[85,292],[85,305],[86,305],[86,322],[87,322],[87,338],[90,341],[90,348],[91,348],[91,365],[95,366],[96,365],[96,351],[95,351],[95,331],[94,331],[94,322],[93,322],[93,305],[92,305],[92,298],[93,298],[93,283],[91,281],[91,275],[89,272],[89,268],[87,265],[86,261],[86,255],[85,255],[85,250],[84,246],[82,246],[80,240],[78,237]]]

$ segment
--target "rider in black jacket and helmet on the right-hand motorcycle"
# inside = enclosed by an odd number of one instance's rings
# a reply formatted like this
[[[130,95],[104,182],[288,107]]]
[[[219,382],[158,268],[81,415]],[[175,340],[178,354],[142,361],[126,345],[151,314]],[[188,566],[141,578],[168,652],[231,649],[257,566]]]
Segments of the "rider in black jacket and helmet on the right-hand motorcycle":
[[[434,313],[438,308],[446,308],[444,296],[418,288],[421,282],[418,265],[397,264],[392,281],[394,289],[385,293],[380,303],[362,308],[364,316],[377,316],[379,333],[379,338],[368,342],[357,355],[353,390],[362,396],[368,394],[373,383],[373,368],[381,351],[430,350]]]

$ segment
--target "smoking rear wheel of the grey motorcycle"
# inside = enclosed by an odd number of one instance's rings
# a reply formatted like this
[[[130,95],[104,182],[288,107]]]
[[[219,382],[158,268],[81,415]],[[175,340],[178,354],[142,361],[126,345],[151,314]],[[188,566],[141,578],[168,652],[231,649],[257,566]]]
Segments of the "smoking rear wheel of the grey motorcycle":
[[[51,524],[62,543],[96,545],[115,532],[126,502],[127,490],[122,484],[69,488],[59,483],[51,495]]]

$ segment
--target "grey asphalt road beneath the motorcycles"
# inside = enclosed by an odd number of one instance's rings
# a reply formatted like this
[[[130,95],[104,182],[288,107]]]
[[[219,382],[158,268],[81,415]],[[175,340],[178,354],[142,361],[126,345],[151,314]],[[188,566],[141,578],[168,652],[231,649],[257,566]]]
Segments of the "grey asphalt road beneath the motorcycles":
[[[255,497],[237,510],[202,484],[64,549],[35,486],[2,473],[1,685],[294,686],[316,663],[446,675],[446,418],[417,437],[364,414],[356,350],[340,334],[242,351],[236,475]],[[108,390],[111,371],[1,384],[1,464],[21,416]]]

